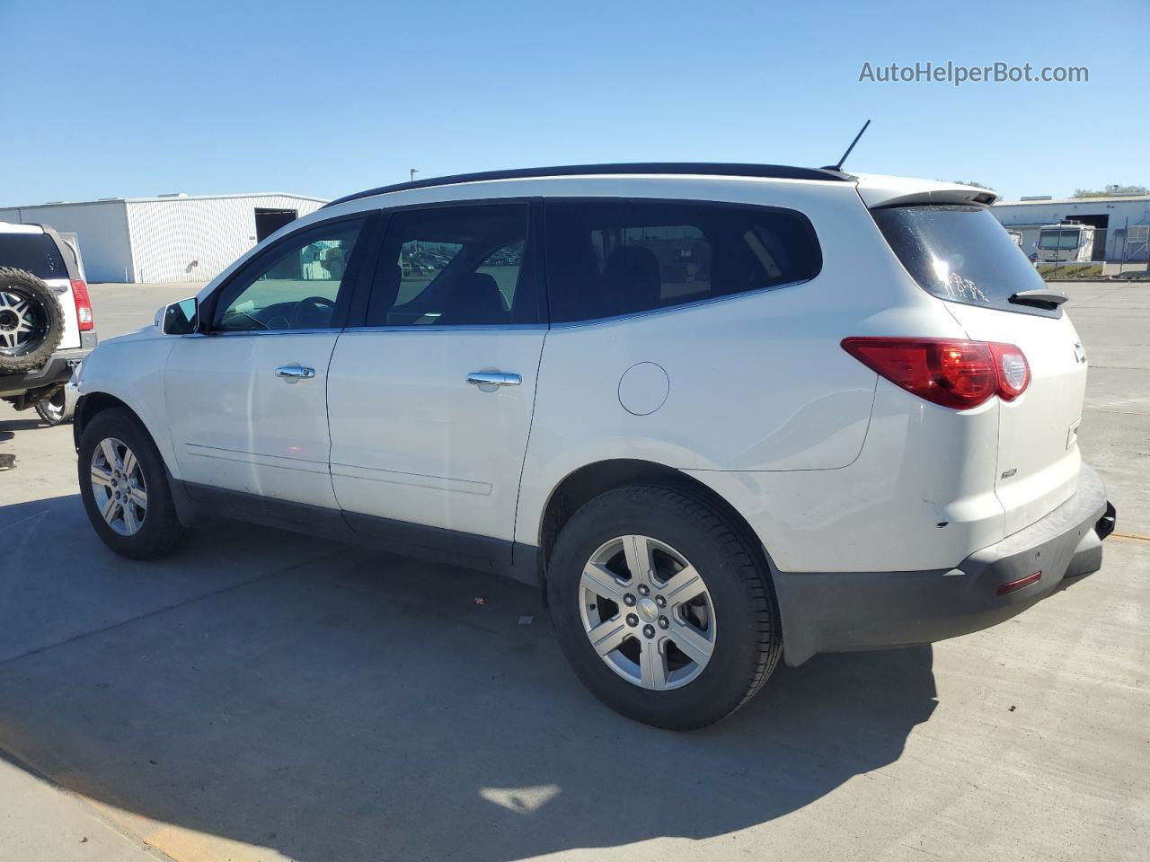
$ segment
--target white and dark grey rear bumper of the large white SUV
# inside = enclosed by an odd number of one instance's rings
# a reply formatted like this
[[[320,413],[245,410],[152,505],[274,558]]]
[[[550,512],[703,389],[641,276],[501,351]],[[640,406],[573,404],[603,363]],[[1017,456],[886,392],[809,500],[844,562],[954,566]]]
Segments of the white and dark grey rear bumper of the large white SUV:
[[[1070,500],[953,569],[774,572],[787,663],[815,653],[930,644],[1000,623],[1102,568],[1102,540],[1113,529],[1114,507],[1083,463]]]

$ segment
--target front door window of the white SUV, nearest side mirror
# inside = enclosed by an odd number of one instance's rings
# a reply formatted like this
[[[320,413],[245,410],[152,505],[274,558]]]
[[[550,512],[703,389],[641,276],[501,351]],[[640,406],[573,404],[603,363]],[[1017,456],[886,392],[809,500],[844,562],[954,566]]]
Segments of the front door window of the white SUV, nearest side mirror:
[[[308,229],[277,243],[223,288],[215,329],[252,332],[327,329],[351,290],[348,269],[361,221]]]

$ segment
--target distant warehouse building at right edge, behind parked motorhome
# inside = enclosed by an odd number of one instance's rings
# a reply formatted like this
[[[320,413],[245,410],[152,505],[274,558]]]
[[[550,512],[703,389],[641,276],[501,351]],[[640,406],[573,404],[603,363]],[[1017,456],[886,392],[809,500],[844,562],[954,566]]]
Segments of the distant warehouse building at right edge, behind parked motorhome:
[[[1004,228],[1022,234],[1022,251],[1034,252],[1038,229],[1059,222],[1095,228],[1091,260],[1145,263],[1150,240],[1150,195],[1114,198],[1023,198],[996,203],[990,211]]]

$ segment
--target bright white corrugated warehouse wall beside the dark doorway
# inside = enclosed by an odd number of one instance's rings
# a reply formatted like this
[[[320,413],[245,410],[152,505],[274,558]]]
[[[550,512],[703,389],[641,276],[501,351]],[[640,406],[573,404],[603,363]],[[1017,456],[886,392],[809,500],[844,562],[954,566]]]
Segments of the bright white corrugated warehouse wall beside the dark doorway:
[[[255,245],[256,208],[294,209],[304,216],[321,206],[289,194],[129,200],[133,280],[210,280]]]

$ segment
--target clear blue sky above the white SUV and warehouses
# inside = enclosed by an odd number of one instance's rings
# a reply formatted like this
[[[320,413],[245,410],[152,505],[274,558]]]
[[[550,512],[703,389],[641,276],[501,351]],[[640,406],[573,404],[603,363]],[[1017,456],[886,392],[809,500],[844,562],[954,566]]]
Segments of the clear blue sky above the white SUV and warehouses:
[[[597,161],[1150,184],[1150,3],[0,0],[0,205]],[[1086,66],[1088,84],[859,83]]]

